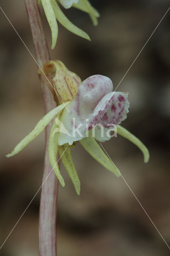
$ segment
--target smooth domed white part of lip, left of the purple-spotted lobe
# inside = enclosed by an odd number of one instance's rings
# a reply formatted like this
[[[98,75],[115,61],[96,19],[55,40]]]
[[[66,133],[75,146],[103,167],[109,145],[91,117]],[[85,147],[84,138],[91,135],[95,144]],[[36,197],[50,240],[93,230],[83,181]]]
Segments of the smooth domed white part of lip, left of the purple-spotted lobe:
[[[61,122],[71,136],[59,134],[58,144],[73,144],[86,136],[86,119],[93,113],[101,99],[113,90],[110,78],[101,75],[90,76],[78,88],[75,98],[61,116]]]

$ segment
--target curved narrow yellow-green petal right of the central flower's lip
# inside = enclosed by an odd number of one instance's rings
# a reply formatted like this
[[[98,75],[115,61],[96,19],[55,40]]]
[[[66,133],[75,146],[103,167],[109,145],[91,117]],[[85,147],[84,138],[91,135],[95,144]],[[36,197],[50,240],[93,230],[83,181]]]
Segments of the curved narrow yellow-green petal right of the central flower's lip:
[[[128,132],[125,128],[123,128],[120,125],[117,125],[117,133],[120,134],[121,136],[125,137],[126,139],[130,140],[132,143],[134,143],[143,153],[144,155],[144,162],[147,163],[149,161],[149,151],[144,146],[144,144],[136,138],[133,134]]]

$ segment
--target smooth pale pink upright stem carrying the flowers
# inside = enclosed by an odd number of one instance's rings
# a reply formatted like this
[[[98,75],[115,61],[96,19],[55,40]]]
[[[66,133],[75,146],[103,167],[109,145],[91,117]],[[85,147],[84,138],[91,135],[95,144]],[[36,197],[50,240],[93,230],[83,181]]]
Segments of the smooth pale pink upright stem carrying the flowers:
[[[37,0],[25,0],[26,10],[30,22],[36,59],[40,67],[50,60],[47,42],[44,36],[42,19]],[[49,82],[44,76],[40,76],[43,104],[45,114],[56,107],[56,102],[49,90]],[[43,181],[52,170],[48,157],[49,133],[51,122],[45,128],[45,157]],[[52,171],[42,186],[39,218],[39,252],[40,256],[56,256],[56,217],[57,217],[57,193],[58,179]]]

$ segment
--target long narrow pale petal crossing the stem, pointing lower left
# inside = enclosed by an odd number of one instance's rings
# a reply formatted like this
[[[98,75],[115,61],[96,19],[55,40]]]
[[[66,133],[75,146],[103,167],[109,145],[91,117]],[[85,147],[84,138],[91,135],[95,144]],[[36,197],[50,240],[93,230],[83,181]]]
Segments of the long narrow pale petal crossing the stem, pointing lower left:
[[[59,113],[69,102],[65,102],[65,104],[59,105],[49,113],[47,113],[36,125],[34,130],[30,132],[15,148],[11,153],[7,154],[6,157],[14,156],[18,152],[20,152],[30,141],[34,140],[38,134],[40,134],[45,126]]]

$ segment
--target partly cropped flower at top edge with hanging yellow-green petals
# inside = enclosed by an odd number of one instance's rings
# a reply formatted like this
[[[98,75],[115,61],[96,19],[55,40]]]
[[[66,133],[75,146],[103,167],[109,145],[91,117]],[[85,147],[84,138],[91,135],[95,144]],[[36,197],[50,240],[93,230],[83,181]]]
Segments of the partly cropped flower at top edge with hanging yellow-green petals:
[[[69,30],[70,32],[76,34],[77,36],[81,36],[87,40],[90,40],[89,36],[83,30],[75,26],[72,22],[70,22],[67,19],[67,17],[61,11],[59,4],[57,3],[57,0],[38,0],[38,2],[39,4],[40,2],[42,2],[45,16],[51,28],[52,49],[55,47],[57,41],[57,21],[59,21],[59,23],[65,28],[67,28],[67,30]],[[58,0],[58,2],[65,9],[68,9],[71,6],[73,6],[74,8],[77,8],[83,12],[87,12],[93,22],[93,25],[96,26],[98,24],[97,18],[99,18],[99,12],[97,12],[97,10],[93,6],[91,6],[88,0]]]

